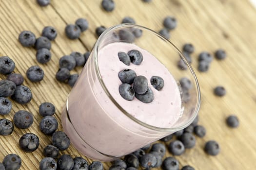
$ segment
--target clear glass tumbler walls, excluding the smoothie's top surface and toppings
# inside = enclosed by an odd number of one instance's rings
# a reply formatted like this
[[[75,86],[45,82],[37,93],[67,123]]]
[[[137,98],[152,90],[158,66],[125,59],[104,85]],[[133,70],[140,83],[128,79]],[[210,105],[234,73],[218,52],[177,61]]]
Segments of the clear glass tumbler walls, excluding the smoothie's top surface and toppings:
[[[135,30],[142,31],[142,36],[134,38],[123,34],[129,35]],[[150,52],[175,78],[182,99],[182,112],[171,128],[156,127],[136,119],[110,94],[98,68],[98,51],[115,42],[133,43]],[[183,67],[177,67],[180,60],[184,62]],[[182,77],[190,79],[192,88],[189,91],[182,90],[179,84]],[[107,29],[98,38],[67,98],[61,119],[64,132],[79,152],[100,161],[112,161],[187,127],[196,118],[199,106],[197,77],[175,45],[148,28],[120,24]],[[117,116],[117,113],[120,114]]]

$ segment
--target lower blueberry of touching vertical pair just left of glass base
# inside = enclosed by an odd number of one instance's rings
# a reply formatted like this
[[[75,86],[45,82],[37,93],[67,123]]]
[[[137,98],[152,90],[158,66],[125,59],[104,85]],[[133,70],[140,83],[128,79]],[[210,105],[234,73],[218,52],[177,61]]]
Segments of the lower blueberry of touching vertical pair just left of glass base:
[[[51,135],[58,129],[58,121],[53,116],[45,116],[39,123],[39,129],[45,135]]]

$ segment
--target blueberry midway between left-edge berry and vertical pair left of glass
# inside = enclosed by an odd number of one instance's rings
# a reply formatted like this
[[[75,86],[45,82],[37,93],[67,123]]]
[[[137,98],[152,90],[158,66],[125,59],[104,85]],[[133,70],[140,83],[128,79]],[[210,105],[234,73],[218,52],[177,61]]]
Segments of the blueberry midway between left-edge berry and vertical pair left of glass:
[[[33,124],[34,118],[31,113],[25,110],[20,110],[15,113],[13,121],[16,127],[20,129],[26,129]]]

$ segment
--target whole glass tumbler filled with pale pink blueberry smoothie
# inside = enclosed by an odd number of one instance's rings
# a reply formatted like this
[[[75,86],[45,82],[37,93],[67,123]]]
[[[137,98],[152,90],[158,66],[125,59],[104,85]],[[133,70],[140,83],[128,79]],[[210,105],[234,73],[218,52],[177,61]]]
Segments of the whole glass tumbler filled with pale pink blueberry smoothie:
[[[130,81],[122,88],[121,74]],[[99,36],[61,119],[80,153],[112,161],[187,127],[199,106],[197,77],[175,45],[148,28],[120,24]]]

